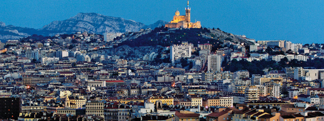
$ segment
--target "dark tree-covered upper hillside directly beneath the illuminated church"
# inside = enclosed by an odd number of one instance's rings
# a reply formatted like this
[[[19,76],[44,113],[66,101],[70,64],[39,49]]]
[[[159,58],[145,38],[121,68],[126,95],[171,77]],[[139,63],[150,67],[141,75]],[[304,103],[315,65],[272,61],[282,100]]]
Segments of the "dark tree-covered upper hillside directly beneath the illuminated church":
[[[207,28],[191,28],[191,29],[168,29],[155,28],[154,30],[146,30],[143,32],[133,32],[126,34],[124,38],[117,40],[121,42],[119,46],[128,45],[131,47],[140,46],[171,46],[173,44],[181,44],[182,42],[197,44],[212,44],[214,49],[220,48],[223,42],[247,43],[231,33],[224,32],[219,29]]]

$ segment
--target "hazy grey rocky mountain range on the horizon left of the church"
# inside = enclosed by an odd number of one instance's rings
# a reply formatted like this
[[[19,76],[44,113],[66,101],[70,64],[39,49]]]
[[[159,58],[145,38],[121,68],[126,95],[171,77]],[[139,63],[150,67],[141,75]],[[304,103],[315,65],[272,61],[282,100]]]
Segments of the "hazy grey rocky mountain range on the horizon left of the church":
[[[156,28],[166,24],[166,21],[158,20],[153,24],[145,25],[134,20],[104,16],[97,13],[78,13],[62,21],[53,21],[41,29],[16,27],[0,21],[0,40],[19,39],[32,34],[53,36],[55,34],[71,34],[77,31],[102,34],[103,32],[127,32],[139,31],[140,29]]]

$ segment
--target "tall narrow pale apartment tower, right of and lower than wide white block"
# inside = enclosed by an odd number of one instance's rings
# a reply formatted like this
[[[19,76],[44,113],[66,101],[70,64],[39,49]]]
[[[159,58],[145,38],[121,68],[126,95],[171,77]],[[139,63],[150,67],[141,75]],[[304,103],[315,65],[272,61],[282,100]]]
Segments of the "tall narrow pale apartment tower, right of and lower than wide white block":
[[[208,71],[220,71],[222,58],[219,54],[210,54],[208,55]]]

